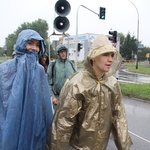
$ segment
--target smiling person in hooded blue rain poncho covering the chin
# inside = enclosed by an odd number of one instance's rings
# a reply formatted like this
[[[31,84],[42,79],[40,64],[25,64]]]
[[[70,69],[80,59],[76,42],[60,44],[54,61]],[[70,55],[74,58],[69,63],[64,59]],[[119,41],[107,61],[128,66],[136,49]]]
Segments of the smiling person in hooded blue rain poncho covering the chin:
[[[34,30],[19,33],[17,57],[0,64],[0,150],[43,150],[52,121],[44,68],[43,38]]]

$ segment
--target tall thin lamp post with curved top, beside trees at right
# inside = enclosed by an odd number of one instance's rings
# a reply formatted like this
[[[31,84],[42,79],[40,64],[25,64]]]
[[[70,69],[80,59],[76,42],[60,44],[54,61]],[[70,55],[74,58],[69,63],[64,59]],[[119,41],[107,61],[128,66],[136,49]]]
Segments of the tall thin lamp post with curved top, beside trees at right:
[[[137,51],[136,51],[136,69],[138,69],[138,42],[139,42],[139,11],[136,7],[136,5],[129,0],[129,2],[135,7],[136,12],[137,12]]]

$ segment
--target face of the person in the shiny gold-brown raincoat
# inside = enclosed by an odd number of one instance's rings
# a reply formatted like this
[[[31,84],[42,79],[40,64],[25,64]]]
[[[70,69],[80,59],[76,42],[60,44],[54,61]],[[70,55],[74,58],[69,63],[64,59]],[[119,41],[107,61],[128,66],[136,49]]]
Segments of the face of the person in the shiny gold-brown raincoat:
[[[101,74],[108,72],[113,63],[114,53],[104,53],[93,58],[93,68]]]

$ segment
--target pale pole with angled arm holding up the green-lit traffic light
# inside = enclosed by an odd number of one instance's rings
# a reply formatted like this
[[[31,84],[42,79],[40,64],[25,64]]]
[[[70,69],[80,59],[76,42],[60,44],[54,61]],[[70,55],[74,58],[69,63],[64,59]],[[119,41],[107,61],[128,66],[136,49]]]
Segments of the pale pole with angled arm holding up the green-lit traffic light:
[[[91,10],[91,9],[89,9],[89,8],[87,8],[87,7],[85,7],[84,5],[79,5],[79,6],[78,6],[77,14],[76,14],[76,50],[75,50],[75,68],[76,68],[76,70],[77,70],[77,48],[78,48],[78,12],[79,12],[80,6],[82,6],[82,7],[84,7],[85,9],[91,11],[92,13],[98,15],[98,17],[99,17],[99,14],[98,14],[98,13],[96,13],[96,12],[94,12],[93,10]]]

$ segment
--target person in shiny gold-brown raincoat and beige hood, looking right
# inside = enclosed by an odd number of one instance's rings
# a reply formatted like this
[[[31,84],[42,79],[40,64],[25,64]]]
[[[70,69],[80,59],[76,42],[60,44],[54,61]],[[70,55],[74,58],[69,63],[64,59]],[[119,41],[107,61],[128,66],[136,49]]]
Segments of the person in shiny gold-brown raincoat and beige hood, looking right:
[[[105,35],[91,45],[85,68],[68,78],[52,122],[51,150],[106,150],[110,133],[118,150],[129,150],[126,113],[113,74],[122,57]]]

